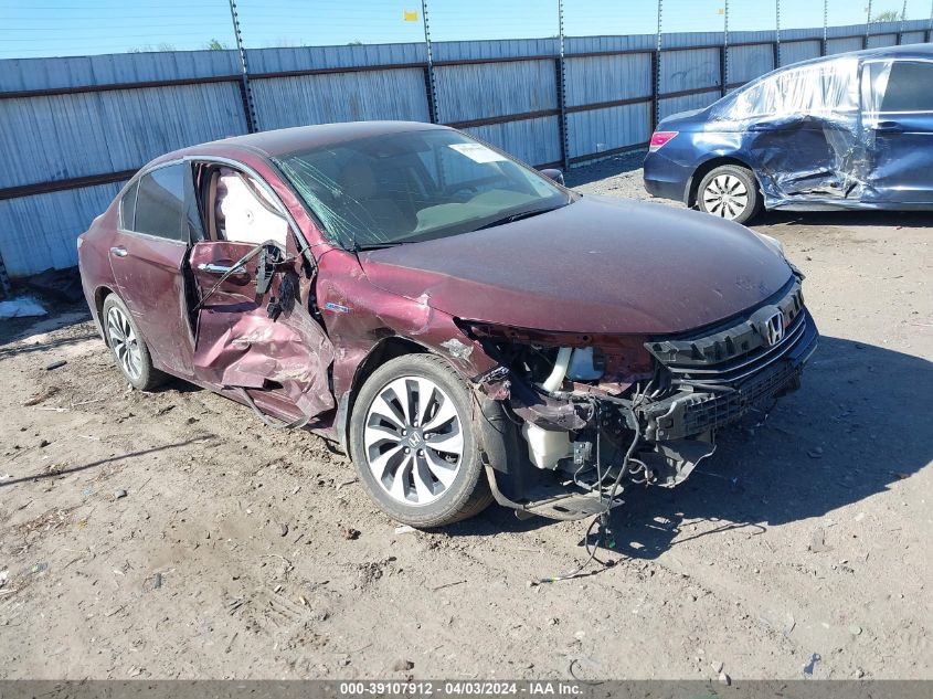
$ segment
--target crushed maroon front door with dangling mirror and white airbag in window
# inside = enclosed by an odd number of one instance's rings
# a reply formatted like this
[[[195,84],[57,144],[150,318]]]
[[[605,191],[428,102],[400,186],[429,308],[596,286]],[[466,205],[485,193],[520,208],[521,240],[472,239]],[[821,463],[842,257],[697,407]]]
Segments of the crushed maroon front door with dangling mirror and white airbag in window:
[[[189,256],[194,375],[237,394],[267,424],[307,424],[335,406],[333,347],[309,313],[312,279],[295,231],[254,177],[199,165],[195,179],[210,240]]]

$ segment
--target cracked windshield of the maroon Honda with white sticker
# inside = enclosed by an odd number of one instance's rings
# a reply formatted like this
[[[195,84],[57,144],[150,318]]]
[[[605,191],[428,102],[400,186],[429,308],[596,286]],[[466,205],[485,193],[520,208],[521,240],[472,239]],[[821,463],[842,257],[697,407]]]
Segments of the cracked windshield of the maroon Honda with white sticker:
[[[342,141],[275,162],[347,250],[458,235],[572,201],[548,178],[447,129]]]

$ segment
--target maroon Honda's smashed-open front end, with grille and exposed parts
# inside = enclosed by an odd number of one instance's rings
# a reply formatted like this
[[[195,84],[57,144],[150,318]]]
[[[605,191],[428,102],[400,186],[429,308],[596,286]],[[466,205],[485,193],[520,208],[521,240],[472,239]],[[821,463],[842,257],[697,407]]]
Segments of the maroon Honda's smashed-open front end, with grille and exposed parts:
[[[685,336],[465,331],[499,361],[478,379],[495,400],[487,428],[511,433],[512,453],[489,455],[496,499],[556,519],[686,480],[719,428],[799,386],[817,345],[796,276],[743,317]]]

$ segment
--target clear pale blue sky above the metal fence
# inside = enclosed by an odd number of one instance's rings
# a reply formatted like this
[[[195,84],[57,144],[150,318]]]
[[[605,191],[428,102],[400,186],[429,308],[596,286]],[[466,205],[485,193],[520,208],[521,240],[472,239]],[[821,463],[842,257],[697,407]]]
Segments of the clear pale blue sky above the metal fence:
[[[725,0],[662,0],[664,32],[723,31]],[[421,0],[237,0],[247,47],[424,40]],[[868,0],[729,0],[729,28],[773,30],[865,23]],[[933,0],[872,0],[872,14]],[[405,18],[409,18],[406,21]],[[558,0],[427,0],[432,41],[558,34]],[[413,20],[413,18],[416,18]],[[657,0],[564,0],[564,33],[653,34]],[[0,59],[234,47],[229,0],[0,0]]]

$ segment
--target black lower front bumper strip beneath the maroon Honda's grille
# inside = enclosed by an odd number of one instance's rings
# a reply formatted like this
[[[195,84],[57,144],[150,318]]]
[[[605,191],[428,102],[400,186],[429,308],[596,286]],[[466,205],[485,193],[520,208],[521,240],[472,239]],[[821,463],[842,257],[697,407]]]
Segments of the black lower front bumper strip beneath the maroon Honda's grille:
[[[731,386],[682,390],[640,409],[645,438],[661,442],[706,434],[799,388],[804,366],[816,351],[819,338],[813,317],[804,313],[806,325],[799,339],[764,370]]]

